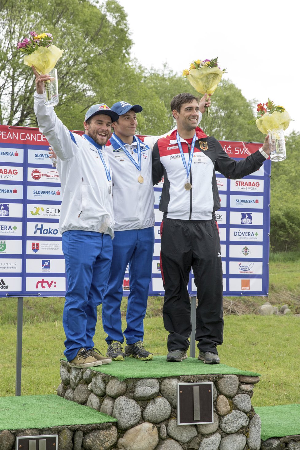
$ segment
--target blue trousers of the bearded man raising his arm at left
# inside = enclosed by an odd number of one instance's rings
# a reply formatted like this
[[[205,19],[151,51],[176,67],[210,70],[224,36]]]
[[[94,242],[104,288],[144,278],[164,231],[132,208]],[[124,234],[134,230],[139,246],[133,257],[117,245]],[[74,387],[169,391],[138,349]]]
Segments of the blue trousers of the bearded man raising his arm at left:
[[[112,238],[82,230],[65,231],[62,236],[68,282],[63,310],[64,355],[71,361],[82,347],[94,347],[97,306],[102,303],[107,283]]]

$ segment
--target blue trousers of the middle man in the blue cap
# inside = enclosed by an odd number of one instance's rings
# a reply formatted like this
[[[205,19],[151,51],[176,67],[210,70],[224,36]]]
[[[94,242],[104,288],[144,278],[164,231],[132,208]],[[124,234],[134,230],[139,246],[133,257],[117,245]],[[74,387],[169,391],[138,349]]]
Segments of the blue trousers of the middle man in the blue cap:
[[[126,312],[127,344],[143,341],[143,319],[146,314],[149,283],[152,276],[154,228],[115,231],[112,240],[112,266],[102,304],[106,342],[124,342],[121,324],[123,279],[129,265],[130,292]]]

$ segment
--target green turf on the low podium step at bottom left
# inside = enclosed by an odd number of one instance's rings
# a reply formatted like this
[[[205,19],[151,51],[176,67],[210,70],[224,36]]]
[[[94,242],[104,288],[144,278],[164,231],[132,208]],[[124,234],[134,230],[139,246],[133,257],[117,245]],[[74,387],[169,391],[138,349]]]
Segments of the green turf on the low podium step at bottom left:
[[[116,422],[107,414],[58,395],[0,397],[0,430]]]

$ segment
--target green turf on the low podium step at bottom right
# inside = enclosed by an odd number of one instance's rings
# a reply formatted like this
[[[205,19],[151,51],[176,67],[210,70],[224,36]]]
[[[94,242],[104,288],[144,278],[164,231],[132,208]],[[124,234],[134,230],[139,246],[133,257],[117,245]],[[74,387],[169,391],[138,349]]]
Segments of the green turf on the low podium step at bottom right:
[[[261,419],[263,441],[270,437],[284,437],[300,434],[300,405],[255,406],[255,413]]]

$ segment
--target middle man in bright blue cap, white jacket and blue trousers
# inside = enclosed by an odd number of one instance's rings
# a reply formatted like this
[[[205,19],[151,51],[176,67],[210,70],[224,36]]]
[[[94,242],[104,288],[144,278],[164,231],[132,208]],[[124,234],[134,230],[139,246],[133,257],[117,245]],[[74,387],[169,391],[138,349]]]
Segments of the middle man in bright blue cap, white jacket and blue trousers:
[[[205,104],[210,106],[210,99],[206,102],[206,96],[199,104],[202,112]],[[112,111],[119,115],[119,119],[112,123],[114,133],[107,142],[113,173],[115,219],[112,265],[102,305],[103,329],[108,335],[107,356],[114,361],[124,361],[124,356],[152,360],[153,354],[143,347],[143,319],[154,249],[152,148],[157,139],[163,136],[135,135],[138,125],[136,114],[143,111],[140,105],[120,101],[112,105]],[[124,331],[127,345],[123,351],[121,300],[127,266],[130,293],[126,312],[127,327]]]

